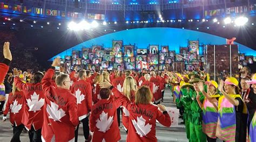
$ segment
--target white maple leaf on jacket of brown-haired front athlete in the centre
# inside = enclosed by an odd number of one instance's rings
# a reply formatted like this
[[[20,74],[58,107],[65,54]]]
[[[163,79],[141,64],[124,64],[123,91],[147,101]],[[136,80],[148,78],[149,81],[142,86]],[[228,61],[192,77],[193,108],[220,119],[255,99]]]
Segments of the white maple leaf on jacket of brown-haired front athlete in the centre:
[[[142,116],[137,117],[137,121],[135,119],[132,120],[132,124],[140,137],[146,136],[146,134],[148,134],[151,131],[152,125],[145,125],[145,123],[146,120]]]

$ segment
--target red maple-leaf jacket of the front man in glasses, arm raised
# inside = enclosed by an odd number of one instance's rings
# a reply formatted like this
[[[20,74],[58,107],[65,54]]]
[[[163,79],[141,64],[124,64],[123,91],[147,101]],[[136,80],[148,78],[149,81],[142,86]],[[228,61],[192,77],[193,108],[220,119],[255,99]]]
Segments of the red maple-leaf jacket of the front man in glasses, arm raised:
[[[77,116],[76,97],[70,90],[52,86],[55,70],[49,69],[42,79],[45,94],[42,138],[45,141],[69,141],[75,139]]]

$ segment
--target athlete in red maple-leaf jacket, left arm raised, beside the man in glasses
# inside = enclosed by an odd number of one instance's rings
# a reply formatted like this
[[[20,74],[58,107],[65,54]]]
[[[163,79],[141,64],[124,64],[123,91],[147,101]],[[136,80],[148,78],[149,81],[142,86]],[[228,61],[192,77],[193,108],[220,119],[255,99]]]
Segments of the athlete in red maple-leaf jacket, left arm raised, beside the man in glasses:
[[[42,72],[37,72],[29,83],[24,84],[18,77],[18,70],[14,69],[14,84],[18,90],[24,93],[24,116],[22,123],[29,130],[30,141],[41,141],[41,130],[43,125],[44,93],[41,80]]]

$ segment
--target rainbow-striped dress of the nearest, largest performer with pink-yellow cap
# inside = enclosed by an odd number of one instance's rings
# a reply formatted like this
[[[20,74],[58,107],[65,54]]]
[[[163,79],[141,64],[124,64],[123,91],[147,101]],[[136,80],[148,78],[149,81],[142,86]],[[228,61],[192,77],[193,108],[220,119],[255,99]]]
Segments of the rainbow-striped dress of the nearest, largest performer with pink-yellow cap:
[[[240,97],[239,94],[230,94],[232,98]],[[241,97],[240,97],[241,98]],[[217,123],[216,136],[224,141],[235,141],[235,128],[236,128],[236,118],[235,118],[235,106],[231,104],[225,96],[219,98],[218,103],[219,116]],[[244,103],[244,109],[242,113],[247,114],[246,105]]]

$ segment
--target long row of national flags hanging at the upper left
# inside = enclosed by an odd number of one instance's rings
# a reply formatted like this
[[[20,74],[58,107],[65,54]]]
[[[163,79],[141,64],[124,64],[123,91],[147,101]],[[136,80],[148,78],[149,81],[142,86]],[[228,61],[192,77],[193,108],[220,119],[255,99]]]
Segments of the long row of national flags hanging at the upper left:
[[[35,13],[38,15],[47,15],[47,16],[61,16],[61,17],[73,17],[73,18],[87,18],[87,19],[97,19],[104,20],[105,15],[103,14],[95,14],[95,13],[80,13],[80,12],[65,12],[61,10],[52,10],[52,9],[43,9],[43,8],[33,8],[29,6],[21,6],[21,5],[8,5],[3,2],[0,3],[0,9],[13,10],[20,13]]]

